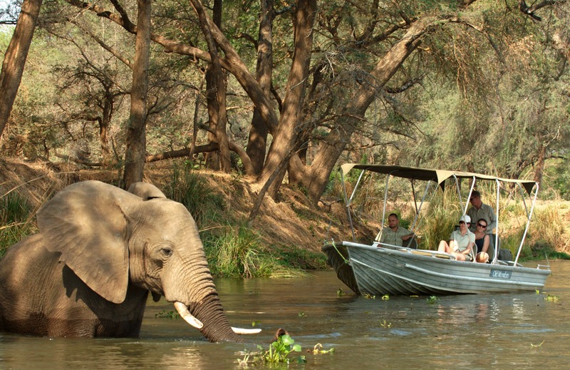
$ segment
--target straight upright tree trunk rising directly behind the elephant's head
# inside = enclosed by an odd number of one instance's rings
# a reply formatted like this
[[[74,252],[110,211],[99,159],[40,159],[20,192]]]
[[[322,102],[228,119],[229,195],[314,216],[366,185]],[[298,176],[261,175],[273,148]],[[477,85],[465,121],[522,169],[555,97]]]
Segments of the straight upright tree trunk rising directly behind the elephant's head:
[[[130,89],[130,118],[125,153],[125,189],[142,181],[145,169],[148,66],[150,56],[150,5],[151,0],[137,0],[137,38],[133,86]]]

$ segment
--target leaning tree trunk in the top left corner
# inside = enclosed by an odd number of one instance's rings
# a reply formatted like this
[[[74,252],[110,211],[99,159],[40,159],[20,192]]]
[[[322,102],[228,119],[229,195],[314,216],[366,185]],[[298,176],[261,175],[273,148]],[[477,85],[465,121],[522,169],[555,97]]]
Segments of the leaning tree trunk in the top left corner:
[[[0,137],[10,118],[42,0],[24,0],[0,72]]]

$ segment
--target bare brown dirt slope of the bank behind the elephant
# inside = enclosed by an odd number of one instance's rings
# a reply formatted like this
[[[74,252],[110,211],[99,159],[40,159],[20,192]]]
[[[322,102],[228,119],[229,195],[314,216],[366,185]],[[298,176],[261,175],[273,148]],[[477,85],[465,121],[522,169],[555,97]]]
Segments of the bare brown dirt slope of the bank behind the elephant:
[[[164,188],[170,181],[172,163],[147,165],[145,181]],[[247,178],[197,171],[207,178],[212,192],[224,199],[224,212],[232,220],[247,220],[259,187]],[[0,195],[10,191],[20,192],[39,207],[48,197],[70,183],[82,180],[100,180],[117,184],[120,175],[116,170],[89,170],[75,165],[25,163],[21,160],[0,158]],[[319,208],[310,207],[300,190],[284,185],[279,202],[265,197],[261,210],[252,227],[259,232],[268,246],[276,248],[299,247],[320,252],[325,240],[343,240],[351,235],[346,210],[338,199],[323,199]],[[371,240],[378,230],[378,223],[368,220],[356,230],[361,240]]]

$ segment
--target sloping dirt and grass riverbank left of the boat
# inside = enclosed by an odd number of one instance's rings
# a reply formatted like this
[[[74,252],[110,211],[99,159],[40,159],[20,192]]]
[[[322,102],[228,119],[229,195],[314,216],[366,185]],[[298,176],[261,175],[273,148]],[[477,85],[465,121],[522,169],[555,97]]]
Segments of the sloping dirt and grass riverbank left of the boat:
[[[245,250],[234,251],[234,255],[228,258],[252,259],[252,256],[257,256],[255,258],[259,259],[259,265],[252,268],[273,270],[261,274],[288,276],[295,269],[328,268],[326,257],[321,252],[323,242],[343,240],[351,235],[348,217],[340,198],[329,197],[323,200],[321,207],[311,207],[303,192],[285,185],[281,187],[279,202],[264,197],[259,214],[248,224],[249,212],[259,193],[257,185],[248,178],[235,174],[209,170],[190,172],[192,176],[203,180],[207,187],[207,190],[201,190],[204,194],[197,195],[197,202],[203,204],[195,206],[195,213],[199,215],[194,214],[194,217],[199,224],[207,253],[214,259],[219,257],[219,250],[209,250],[210,248],[217,245],[219,249],[223,242],[226,247],[230,245],[240,248],[239,245],[244,243],[243,239],[247,239],[249,245],[244,246]],[[152,163],[147,165],[145,170],[145,182],[156,185],[167,195],[172,192],[173,186],[183,186],[187,176],[189,173],[180,161]],[[29,208],[32,215],[53,193],[66,185],[83,180],[100,180],[116,185],[120,181],[120,175],[116,170],[90,170],[70,164],[46,165],[0,159],[0,196],[6,198],[7,195],[17,194],[18,199],[26,200],[26,208]],[[180,192],[180,189],[177,192]],[[32,216],[29,221],[31,226],[26,231],[35,232],[35,217]],[[23,222],[24,220],[21,220],[19,223]],[[360,225],[356,232],[360,240],[371,240],[379,226],[378,222],[368,220]],[[244,233],[247,234],[245,237]],[[9,241],[3,238],[9,245],[14,244],[18,237],[23,237],[21,233],[11,234],[14,235]],[[269,259],[274,261],[271,262],[272,266],[267,267],[270,264]],[[224,263],[218,260],[214,262],[219,265]],[[216,269],[215,265],[213,269]],[[248,266],[240,269],[251,270]],[[279,269],[284,271],[276,271]],[[224,271],[219,271],[218,274],[229,275]]]

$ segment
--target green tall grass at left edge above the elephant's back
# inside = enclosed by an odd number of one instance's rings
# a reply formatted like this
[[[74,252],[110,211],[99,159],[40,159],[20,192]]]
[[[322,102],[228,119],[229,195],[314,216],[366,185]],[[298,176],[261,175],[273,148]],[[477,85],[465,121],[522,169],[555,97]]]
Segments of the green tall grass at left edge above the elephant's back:
[[[0,257],[11,246],[36,231],[34,207],[18,192],[0,197]]]

